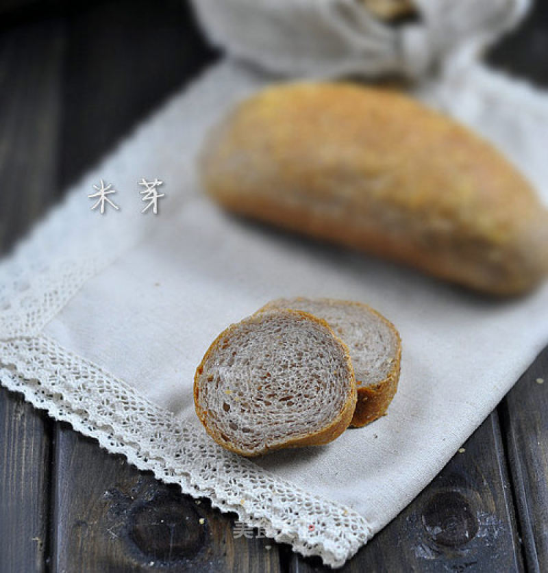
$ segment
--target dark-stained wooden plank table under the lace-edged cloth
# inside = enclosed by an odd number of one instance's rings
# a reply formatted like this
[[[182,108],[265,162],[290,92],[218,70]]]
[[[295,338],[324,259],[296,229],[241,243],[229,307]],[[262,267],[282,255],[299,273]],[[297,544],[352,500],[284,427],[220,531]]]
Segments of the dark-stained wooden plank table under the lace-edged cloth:
[[[3,253],[137,120],[217,57],[179,0],[78,10],[27,3],[0,8]],[[546,86],[547,54],[544,3],[490,60]],[[547,374],[545,351],[343,570],[548,570]],[[0,389],[0,572],[323,570],[288,546],[234,537],[233,525],[234,515],[138,472]]]

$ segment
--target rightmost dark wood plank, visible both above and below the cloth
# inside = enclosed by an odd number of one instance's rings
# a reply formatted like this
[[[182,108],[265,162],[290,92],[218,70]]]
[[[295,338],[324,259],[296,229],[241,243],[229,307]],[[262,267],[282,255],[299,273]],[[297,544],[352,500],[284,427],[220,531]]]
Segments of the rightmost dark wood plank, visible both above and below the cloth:
[[[536,1],[523,25],[489,53],[499,68],[548,86],[548,3]],[[516,513],[530,571],[548,569],[548,349],[503,400],[499,411],[508,450]]]

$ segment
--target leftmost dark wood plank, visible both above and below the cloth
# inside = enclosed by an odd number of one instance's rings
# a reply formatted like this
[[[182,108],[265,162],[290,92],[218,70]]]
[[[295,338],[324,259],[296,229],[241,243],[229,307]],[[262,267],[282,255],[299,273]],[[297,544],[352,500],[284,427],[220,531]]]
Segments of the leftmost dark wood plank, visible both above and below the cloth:
[[[0,38],[2,252],[55,200],[63,55],[58,19]],[[44,571],[52,423],[21,394],[0,388],[0,427],[0,569]]]

